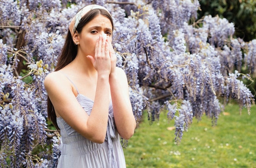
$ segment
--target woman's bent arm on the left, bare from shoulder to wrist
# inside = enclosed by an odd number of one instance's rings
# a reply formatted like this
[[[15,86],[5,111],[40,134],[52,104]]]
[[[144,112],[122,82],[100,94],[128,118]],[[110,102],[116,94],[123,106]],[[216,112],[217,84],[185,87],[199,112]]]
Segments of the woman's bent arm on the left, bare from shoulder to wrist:
[[[99,78],[90,116],[83,110],[74,95],[72,83],[60,72],[53,72],[45,78],[45,89],[55,111],[67,124],[85,138],[103,143],[108,123],[109,82],[108,77]],[[76,92],[76,91],[75,91]]]

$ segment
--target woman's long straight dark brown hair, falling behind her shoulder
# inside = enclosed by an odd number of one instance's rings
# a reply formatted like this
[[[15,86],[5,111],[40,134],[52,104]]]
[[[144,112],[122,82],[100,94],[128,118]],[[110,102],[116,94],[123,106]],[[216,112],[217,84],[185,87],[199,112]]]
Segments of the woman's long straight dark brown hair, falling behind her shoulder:
[[[104,9],[92,9],[88,13],[81,18],[80,23],[78,24],[76,31],[80,34],[83,27],[90,22],[92,19],[94,19],[96,16],[103,15],[106,16],[111,24],[112,24],[112,30],[114,29],[114,24],[112,17],[108,13],[108,11]],[[74,44],[70,30],[67,31],[67,36],[65,39],[65,43],[63,46],[63,49],[61,51],[61,55],[58,57],[58,63],[55,67],[54,71],[58,71],[68,65],[76,58],[77,54],[77,45]],[[47,98],[47,112],[48,112],[48,118],[50,121],[52,121],[53,125],[56,127],[56,129],[59,131],[60,128],[58,127],[57,120],[56,120],[56,113],[54,110],[54,106],[52,105],[51,100],[49,99],[49,96]]]

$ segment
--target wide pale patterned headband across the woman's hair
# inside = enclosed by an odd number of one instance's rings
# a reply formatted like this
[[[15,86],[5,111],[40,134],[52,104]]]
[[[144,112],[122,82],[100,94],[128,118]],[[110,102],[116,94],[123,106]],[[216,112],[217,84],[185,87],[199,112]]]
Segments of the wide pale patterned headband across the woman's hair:
[[[85,16],[85,14],[88,13],[92,9],[104,9],[109,13],[108,9],[106,9],[105,7],[99,6],[97,4],[91,4],[91,5],[84,7],[78,13],[76,13],[76,16],[74,16],[74,18],[70,22],[69,29],[70,29],[70,33],[71,33],[72,37],[74,36],[74,34],[76,32],[77,25],[80,23],[81,18],[83,18],[83,16]]]

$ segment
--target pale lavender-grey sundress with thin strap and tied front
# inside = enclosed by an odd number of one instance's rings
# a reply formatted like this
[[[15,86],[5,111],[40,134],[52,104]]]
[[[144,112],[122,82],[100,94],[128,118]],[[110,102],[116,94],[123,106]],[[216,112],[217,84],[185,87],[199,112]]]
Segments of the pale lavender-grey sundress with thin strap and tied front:
[[[94,102],[79,92],[76,99],[90,115]],[[123,148],[115,129],[112,101],[109,104],[105,141],[101,144],[83,137],[61,117],[57,118],[57,124],[61,130],[62,139],[61,156],[57,168],[126,168]]]

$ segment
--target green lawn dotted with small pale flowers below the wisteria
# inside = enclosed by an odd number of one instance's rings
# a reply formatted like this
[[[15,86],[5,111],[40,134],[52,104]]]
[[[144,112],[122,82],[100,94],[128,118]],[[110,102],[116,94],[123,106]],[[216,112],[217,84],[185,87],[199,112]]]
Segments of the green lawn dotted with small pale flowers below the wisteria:
[[[168,130],[166,114],[150,124],[146,113],[124,149],[127,168],[256,168],[256,106],[239,114],[238,105],[225,108],[216,126],[206,116],[193,120],[179,146]]]

